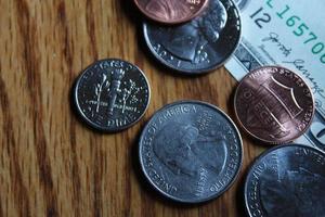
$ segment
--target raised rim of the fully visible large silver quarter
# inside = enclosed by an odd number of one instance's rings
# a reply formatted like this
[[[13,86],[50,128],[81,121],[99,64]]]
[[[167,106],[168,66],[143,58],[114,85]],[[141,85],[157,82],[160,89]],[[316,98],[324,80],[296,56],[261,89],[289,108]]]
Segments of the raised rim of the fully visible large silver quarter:
[[[216,112],[218,112],[221,116],[223,116],[226,120],[230,122],[230,124],[233,126],[233,129],[235,132],[237,132],[236,137],[238,139],[238,148],[240,149],[239,150],[239,154],[240,154],[240,161],[238,163],[238,168],[236,169],[236,173],[233,177],[233,179],[225,186],[225,188],[222,190],[222,191],[219,191],[218,193],[213,194],[212,196],[209,196],[209,197],[206,197],[206,199],[200,199],[200,200],[182,200],[182,199],[178,199],[176,196],[172,196],[166,192],[164,192],[160,188],[158,188],[154,181],[151,179],[151,177],[148,176],[146,169],[145,169],[145,166],[144,166],[144,162],[143,162],[143,154],[142,154],[142,146],[143,146],[143,140],[144,140],[144,136],[146,135],[146,130],[148,128],[148,126],[151,125],[151,123],[153,122],[153,118],[160,114],[162,111],[171,107],[171,106],[174,106],[174,105],[180,105],[180,104],[186,104],[186,103],[192,103],[192,104],[199,104],[199,105],[204,105],[204,106],[207,106],[207,107],[210,107],[212,110],[216,110]],[[157,112],[155,112],[153,114],[153,116],[151,117],[151,119],[146,123],[145,127],[143,128],[142,132],[141,132],[141,136],[140,136],[140,139],[139,139],[139,156],[140,156],[140,165],[141,165],[141,169],[146,178],[146,181],[151,183],[151,187],[153,187],[157,192],[161,193],[164,196],[172,200],[172,201],[176,201],[176,202],[179,202],[179,203],[184,203],[184,204],[198,204],[198,203],[204,203],[204,202],[208,202],[208,201],[211,201],[213,199],[217,199],[219,196],[221,196],[223,193],[225,193],[234,183],[235,181],[238,179],[238,176],[242,171],[242,167],[243,167],[243,161],[244,161],[244,146],[243,146],[243,140],[242,140],[242,136],[240,136],[240,132],[237,128],[237,126],[235,125],[235,123],[232,120],[232,118],[225,113],[223,112],[221,108],[217,107],[216,105],[211,104],[211,103],[208,103],[208,102],[203,102],[203,101],[199,101],[199,100],[180,100],[180,101],[174,101],[174,102],[171,102],[162,107],[160,107]]]

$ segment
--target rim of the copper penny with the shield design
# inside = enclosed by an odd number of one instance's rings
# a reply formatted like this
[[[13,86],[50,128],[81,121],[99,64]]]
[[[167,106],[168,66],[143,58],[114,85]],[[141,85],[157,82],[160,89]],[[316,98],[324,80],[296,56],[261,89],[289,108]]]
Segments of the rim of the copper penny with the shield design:
[[[311,120],[309,122],[309,124],[306,126],[306,128],[303,129],[303,131],[301,131],[299,135],[292,137],[291,139],[289,140],[286,140],[286,141],[269,141],[266,139],[262,139],[262,138],[259,138],[258,136],[253,135],[252,132],[250,132],[245,126],[244,124],[242,123],[242,120],[239,119],[239,115],[237,113],[237,104],[236,104],[236,100],[237,100],[237,95],[238,95],[238,89],[239,87],[242,86],[242,84],[244,82],[244,80],[249,77],[249,75],[251,75],[252,73],[257,72],[257,71],[260,71],[260,69],[265,69],[265,68],[282,68],[282,69],[285,69],[285,71],[289,71],[290,73],[294,73],[295,75],[297,75],[300,79],[302,79],[302,81],[304,82],[304,85],[308,87],[309,91],[311,92],[311,98],[312,98],[312,104],[313,104],[313,113],[312,113],[312,116],[311,116]],[[243,78],[242,80],[239,81],[237,88],[236,88],[236,92],[235,92],[235,97],[234,97],[234,110],[235,110],[235,116],[236,116],[236,119],[237,122],[239,123],[239,126],[244,129],[244,131],[246,131],[246,133],[248,133],[250,137],[252,137],[253,139],[257,139],[259,141],[262,141],[262,142],[265,142],[266,144],[271,144],[271,145],[276,145],[276,144],[285,144],[285,143],[290,143],[292,141],[295,141],[296,139],[298,139],[299,137],[301,137],[304,132],[307,132],[309,129],[310,129],[310,126],[312,125],[313,123],[313,118],[314,118],[314,115],[315,115],[315,99],[314,99],[314,94],[313,94],[313,91],[311,89],[311,87],[308,85],[308,82],[306,81],[304,78],[302,78],[299,74],[297,74],[296,72],[291,71],[291,69],[288,69],[286,67],[283,67],[283,66],[277,66],[277,65],[265,65],[265,66],[261,66],[261,67],[258,67],[258,68],[255,68],[252,71],[250,71],[249,73],[247,73]]]

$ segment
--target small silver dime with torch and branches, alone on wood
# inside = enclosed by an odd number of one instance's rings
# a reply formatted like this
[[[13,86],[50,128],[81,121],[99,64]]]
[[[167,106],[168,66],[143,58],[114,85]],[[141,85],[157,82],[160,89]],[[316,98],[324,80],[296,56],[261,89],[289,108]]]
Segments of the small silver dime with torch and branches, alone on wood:
[[[132,126],[144,115],[150,86],[135,65],[122,60],[102,60],[79,76],[74,99],[86,123],[101,131],[114,132]]]

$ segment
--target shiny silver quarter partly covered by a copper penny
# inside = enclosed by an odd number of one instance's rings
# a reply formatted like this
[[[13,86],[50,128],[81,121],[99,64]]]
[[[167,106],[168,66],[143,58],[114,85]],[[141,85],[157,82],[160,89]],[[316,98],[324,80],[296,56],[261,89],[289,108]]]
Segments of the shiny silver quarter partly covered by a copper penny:
[[[205,12],[178,26],[144,22],[145,41],[166,66],[185,74],[210,72],[235,51],[240,38],[240,18],[231,0],[210,0]]]

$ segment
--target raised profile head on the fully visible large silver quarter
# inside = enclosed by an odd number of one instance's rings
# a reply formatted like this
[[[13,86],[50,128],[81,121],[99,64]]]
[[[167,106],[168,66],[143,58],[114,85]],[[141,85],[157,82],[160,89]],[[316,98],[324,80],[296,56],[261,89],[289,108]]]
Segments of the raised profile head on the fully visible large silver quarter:
[[[170,123],[156,137],[154,153],[176,177],[196,180],[203,170],[221,173],[226,143],[221,133],[204,136],[192,125]]]

